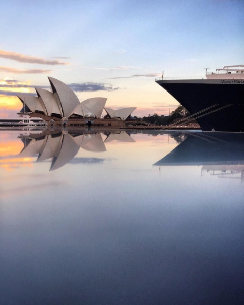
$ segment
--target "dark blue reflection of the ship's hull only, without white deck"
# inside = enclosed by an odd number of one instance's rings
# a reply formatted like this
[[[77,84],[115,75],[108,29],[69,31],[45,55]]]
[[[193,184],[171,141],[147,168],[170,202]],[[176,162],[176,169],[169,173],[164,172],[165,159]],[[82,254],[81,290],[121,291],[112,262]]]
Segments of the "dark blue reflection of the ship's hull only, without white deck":
[[[156,166],[244,164],[244,134],[186,133],[187,138]]]

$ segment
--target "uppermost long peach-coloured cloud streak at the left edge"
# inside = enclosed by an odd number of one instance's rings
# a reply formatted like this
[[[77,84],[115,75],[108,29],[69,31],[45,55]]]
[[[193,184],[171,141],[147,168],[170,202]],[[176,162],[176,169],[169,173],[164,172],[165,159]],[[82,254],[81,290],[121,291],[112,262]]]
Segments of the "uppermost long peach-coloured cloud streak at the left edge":
[[[68,65],[69,63],[60,62],[60,60],[47,60],[40,57],[34,57],[15,52],[0,50],[0,58],[16,60],[21,63],[42,64],[42,65]]]

